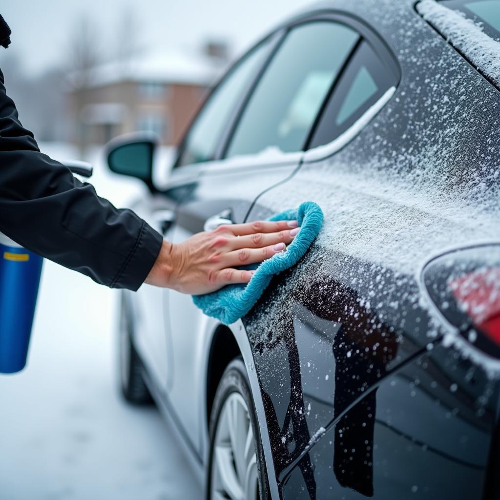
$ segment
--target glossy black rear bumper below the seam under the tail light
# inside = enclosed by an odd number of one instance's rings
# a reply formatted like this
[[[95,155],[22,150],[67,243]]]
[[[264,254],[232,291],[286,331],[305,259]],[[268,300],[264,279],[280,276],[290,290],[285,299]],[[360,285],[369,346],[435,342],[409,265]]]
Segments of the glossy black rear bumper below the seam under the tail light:
[[[484,498],[498,387],[456,364],[438,344],[389,374],[308,450],[310,468],[291,471],[283,498]]]

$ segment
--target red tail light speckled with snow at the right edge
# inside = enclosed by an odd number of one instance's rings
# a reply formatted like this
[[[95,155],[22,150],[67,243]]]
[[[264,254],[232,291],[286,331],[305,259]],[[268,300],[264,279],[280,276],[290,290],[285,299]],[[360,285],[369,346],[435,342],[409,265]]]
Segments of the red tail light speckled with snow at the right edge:
[[[500,358],[500,245],[456,250],[423,270],[430,299],[470,343]]]

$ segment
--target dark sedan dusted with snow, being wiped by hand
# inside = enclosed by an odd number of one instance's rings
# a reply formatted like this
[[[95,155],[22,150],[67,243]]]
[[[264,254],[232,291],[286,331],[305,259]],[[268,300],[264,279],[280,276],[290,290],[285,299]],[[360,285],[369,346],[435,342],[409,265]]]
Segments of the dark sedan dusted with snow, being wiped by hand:
[[[499,5],[312,4],[232,65],[172,165],[147,134],[108,144],[172,242],[324,212],[235,323],[121,293],[123,394],[164,410],[206,498],[500,497]]]

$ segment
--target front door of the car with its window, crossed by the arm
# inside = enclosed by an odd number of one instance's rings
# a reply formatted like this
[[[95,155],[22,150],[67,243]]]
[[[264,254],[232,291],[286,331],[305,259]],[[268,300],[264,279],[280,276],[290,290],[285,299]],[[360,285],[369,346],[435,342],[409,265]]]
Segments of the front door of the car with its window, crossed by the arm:
[[[139,199],[133,206],[135,212],[161,231],[167,240],[175,239],[172,234],[178,225],[176,207],[182,199],[192,196],[204,164],[211,163],[216,157],[219,141],[227,123],[231,121],[234,109],[244,98],[276,41],[275,36],[263,40],[228,72],[210,94],[186,134],[166,185],[152,197]],[[155,173],[161,174],[161,167],[164,167],[161,158],[156,158]],[[198,230],[202,230],[202,227]],[[174,365],[171,337],[165,334],[165,327],[169,331],[167,299],[168,294],[161,288],[144,285],[131,301],[136,318],[136,347],[155,385],[163,390],[173,378]]]

